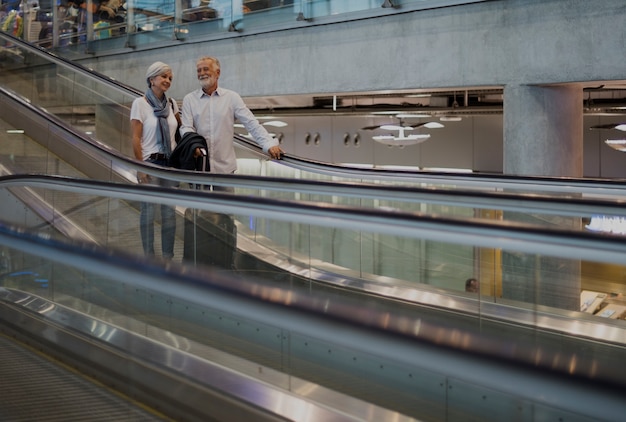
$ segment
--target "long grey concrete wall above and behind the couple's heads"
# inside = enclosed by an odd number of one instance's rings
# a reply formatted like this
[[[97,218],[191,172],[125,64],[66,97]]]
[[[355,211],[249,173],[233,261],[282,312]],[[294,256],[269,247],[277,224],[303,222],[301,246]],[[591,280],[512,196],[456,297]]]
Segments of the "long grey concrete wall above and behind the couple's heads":
[[[243,96],[626,78],[623,0],[496,0],[397,12],[349,22],[319,19],[252,36],[244,31],[84,64],[144,86],[150,63],[169,62],[175,97],[196,88],[195,59],[206,54],[222,61],[222,85]]]

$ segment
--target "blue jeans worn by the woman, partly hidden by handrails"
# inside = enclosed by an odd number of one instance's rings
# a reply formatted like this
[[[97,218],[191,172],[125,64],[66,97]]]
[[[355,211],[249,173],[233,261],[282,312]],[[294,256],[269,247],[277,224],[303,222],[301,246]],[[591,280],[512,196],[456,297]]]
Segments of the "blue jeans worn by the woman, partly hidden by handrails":
[[[149,163],[168,167],[167,160],[146,160]],[[174,182],[152,177],[150,184],[172,187]],[[172,259],[174,256],[174,240],[176,238],[176,211],[169,205],[161,205],[161,251],[163,258]],[[154,255],[154,218],[156,205],[151,202],[141,203],[139,216],[139,230],[141,231],[141,243],[146,255]]]

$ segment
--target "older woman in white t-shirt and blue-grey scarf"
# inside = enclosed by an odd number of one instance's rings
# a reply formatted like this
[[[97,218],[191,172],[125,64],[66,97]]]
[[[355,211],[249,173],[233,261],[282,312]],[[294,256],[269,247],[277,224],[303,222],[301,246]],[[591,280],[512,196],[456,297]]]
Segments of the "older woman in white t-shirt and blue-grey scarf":
[[[159,166],[168,167],[174,147],[175,135],[180,119],[178,105],[168,100],[165,93],[172,84],[172,68],[156,62],[146,72],[148,89],[143,97],[136,98],[130,109],[130,127],[135,158]],[[151,183],[167,186],[164,180],[151,178],[138,173],[139,183]],[[171,182],[169,184],[171,186]],[[154,217],[155,206],[152,203],[141,204],[139,228],[141,241],[146,255],[154,255]],[[174,238],[176,235],[176,215],[173,207],[161,205],[161,249],[163,258],[171,260],[174,256]]]

